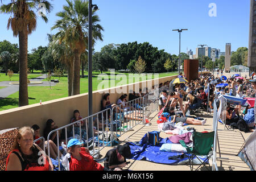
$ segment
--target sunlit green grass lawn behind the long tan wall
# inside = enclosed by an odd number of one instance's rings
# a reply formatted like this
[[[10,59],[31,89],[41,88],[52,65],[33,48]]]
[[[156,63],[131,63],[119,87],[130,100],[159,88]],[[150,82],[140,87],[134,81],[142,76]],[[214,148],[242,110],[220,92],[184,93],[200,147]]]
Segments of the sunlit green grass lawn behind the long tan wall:
[[[107,73],[108,74],[108,73]],[[85,73],[85,76],[87,73]],[[106,89],[106,88],[98,88],[98,84],[102,82],[102,80],[98,80],[97,73],[94,73],[94,76],[92,79],[93,82],[93,91],[98,90],[98,89]],[[125,74],[128,75],[128,74]],[[172,75],[177,75],[177,73],[160,73],[160,77],[166,77],[166,76],[172,76]],[[110,76],[108,76],[110,78]],[[154,78],[154,77],[153,77]],[[50,101],[50,100],[55,100],[57,98],[63,98],[63,97],[68,97],[68,78],[67,76],[64,77],[51,77],[52,80],[59,80],[60,82],[56,84],[56,86],[51,86],[51,89],[49,86],[28,86],[28,104],[36,104],[39,103],[40,100],[42,102]],[[43,80],[47,81],[47,80]],[[107,88],[110,88],[110,81],[109,86]],[[122,80],[114,80],[115,84],[120,85],[119,82]],[[133,82],[136,80],[134,79]],[[141,80],[140,80],[141,81]],[[126,84],[130,84],[127,82]],[[88,92],[88,77],[81,78],[80,79],[80,93],[87,93]],[[19,103],[19,92],[16,92],[14,94],[11,94],[9,97],[4,98],[0,100],[0,110],[6,110],[6,109],[12,109],[15,107],[18,107]]]

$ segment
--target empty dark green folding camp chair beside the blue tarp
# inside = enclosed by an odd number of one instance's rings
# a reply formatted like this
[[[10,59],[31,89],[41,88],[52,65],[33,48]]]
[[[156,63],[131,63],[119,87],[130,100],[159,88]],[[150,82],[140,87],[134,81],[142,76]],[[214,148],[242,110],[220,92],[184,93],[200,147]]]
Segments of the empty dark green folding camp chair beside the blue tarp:
[[[197,131],[194,131],[192,134],[193,137],[193,147],[188,147],[184,140],[179,140],[181,146],[185,147],[188,153],[188,160],[189,160],[189,166],[191,171],[193,171],[193,159],[196,157],[200,162],[200,166],[202,166],[202,164],[204,165],[205,168],[207,168],[205,166],[205,164],[209,164],[209,159],[212,157],[213,153],[212,151],[212,147],[213,147],[213,141],[214,141],[214,131],[210,132],[210,133],[199,133]],[[205,159],[202,162],[202,159],[200,159],[198,156],[207,156],[207,159]],[[191,163],[192,161],[192,163]],[[197,167],[197,169],[200,168]],[[209,171],[210,171],[210,164],[209,164]]]

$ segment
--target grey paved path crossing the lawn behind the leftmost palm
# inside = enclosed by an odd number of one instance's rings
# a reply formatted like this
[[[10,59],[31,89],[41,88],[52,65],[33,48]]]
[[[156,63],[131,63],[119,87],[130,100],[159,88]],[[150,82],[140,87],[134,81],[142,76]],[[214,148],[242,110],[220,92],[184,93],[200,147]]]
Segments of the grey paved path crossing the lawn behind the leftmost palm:
[[[40,77],[30,79],[30,81],[42,81],[45,78],[46,78],[46,75],[44,74]],[[11,94],[14,94],[19,91],[19,85],[12,85],[9,83],[10,83],[10,81],[0,82],[0,86],[6,86],[6,88],[0,89],[0,98],[6,98],[6,97],[10,96]],[[56,85],[55,82],[51,82],[51,86],[55,86],[55,85]],[[42,84],[35,84],[35,85],[28,85],[28,86],[49,86],[49,82],[43,81]]]

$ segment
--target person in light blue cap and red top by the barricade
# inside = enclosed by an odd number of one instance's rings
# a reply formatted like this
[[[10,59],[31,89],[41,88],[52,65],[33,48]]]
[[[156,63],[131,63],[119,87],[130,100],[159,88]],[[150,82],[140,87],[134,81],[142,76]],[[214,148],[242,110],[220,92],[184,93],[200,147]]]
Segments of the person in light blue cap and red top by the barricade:
[[[68,152],[71,154],[69,161],[70,171],[103,171],[104,167],[96,163],[90,156],[87,148],[81,147],[82,142],[78,139],[68,141]]]

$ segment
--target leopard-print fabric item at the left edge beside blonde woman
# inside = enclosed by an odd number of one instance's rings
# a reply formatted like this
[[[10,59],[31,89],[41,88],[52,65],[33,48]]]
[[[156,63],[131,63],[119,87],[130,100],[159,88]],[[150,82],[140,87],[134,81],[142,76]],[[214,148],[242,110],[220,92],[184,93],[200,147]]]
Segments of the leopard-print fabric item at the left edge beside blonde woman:
[[[0,131],[0,171],[5,171],[6,159],[13,147],[18,128]]]

